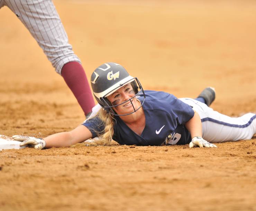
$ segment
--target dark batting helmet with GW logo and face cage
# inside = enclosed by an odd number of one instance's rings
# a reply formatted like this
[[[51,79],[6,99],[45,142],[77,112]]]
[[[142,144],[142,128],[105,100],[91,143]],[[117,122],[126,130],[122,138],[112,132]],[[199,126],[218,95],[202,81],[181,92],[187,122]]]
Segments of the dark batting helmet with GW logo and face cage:
[[[135,96],[125,102],[113,106],[106,97],[128,83],[131,83],[131,86],[135,92]],[[108,62],[96,68],[91,76],[91,86],[93,95],[100,104],[100,106],[113,115],[124,116],[134,113],[142,106],[145,101],[145,93],[139,80],[137,78],[131,77],[126,69],[117,63]],[[140,107],[135,109],[131,100],[135,97],[140,96],[141,94],[143,94],[144,99],[141,102]],[[121,104],[124,104],[128,101],[131,102],[134,109],[134,111],[132,111],[131,113],[119,115],[112,109],[113,107],[120,106]]]

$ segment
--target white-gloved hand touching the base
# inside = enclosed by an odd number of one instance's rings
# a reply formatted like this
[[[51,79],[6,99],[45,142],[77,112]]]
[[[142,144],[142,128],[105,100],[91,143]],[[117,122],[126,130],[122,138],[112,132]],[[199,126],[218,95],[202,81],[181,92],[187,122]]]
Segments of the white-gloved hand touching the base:
[[[12,138],[15,141],[22,141],[20,146],[29,145],[34,147],[35,149],[41,150],[45,147],[46,143],[44,139],[39,139],[31,136],[24,136],[24,135],[13,135]]]

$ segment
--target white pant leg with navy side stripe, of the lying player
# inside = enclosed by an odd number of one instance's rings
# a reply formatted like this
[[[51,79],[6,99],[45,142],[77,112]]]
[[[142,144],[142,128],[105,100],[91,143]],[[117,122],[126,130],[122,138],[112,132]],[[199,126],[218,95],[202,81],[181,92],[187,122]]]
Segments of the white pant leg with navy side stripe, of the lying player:
[[[251,139],[256,133],[256,115],[247,113],[241,117],[229,117],[191,98],[182,98],[199,113],[202,121],[202,137],[211,142]]]

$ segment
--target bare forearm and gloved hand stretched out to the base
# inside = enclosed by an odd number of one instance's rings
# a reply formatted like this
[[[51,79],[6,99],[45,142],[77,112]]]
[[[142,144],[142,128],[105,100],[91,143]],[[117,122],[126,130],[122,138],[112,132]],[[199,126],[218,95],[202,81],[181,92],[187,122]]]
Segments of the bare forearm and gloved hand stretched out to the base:
[[[13,135],[12,138],[16,141],[22,141],[21,146],[28,144],[40,150],[52,147],[70,147],[73,144],[92,138],[92,133],[84,125],[79,125],[70,132],[55,133],[43,139],[21,135]]]

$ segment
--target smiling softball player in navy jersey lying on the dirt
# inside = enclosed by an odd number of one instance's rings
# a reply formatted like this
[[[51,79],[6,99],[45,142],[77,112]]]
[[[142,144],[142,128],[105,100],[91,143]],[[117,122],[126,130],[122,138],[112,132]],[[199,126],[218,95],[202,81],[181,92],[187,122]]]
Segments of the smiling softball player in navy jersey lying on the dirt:
[[[206,88],[197,99],[144,91],[139,80],[117,63],[95,69],[91,86],[100,109],[95,107],[96,115],[82,125],[44,139],[13,138],[23,141],[20,145],[31,144],[36,149],[68,147],[94,137],[100,137],[95,142],[103,145],[115,140],[127,145],[189,144],[190,148],[210,148],[216,147],[213,143],[251,139],[256,133],[255,114],[231,118],[207,106],[215,98],[212,88]]]

